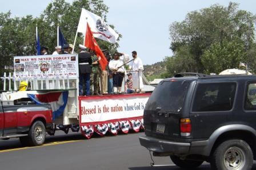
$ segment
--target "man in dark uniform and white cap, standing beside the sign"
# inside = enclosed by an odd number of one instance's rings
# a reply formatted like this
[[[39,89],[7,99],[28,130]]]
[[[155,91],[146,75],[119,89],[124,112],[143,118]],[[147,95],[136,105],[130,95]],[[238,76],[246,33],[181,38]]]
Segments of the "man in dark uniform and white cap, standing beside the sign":
[[[90,96],[90,74],[91,74],[91,55],[86,51],[84,45],[79,44],[78,64],[79,64],[79,96]],[[82,92],[85,84],[85,92]]]

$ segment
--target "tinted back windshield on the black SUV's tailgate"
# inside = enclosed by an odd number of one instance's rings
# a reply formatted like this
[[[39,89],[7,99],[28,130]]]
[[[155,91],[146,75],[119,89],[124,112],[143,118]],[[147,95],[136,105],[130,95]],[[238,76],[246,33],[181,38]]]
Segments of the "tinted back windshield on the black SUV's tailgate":
[[[146,110],[161,110],[179,112],[187,93],[189,82],[187,81],[163,81],[160,82],[147,101]]]

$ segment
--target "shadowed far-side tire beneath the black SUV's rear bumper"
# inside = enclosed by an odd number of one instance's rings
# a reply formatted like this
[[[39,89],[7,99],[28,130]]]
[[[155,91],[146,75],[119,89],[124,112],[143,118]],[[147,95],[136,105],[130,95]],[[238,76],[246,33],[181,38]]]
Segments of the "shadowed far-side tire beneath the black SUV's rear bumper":
[[[178,167],[184,168],[184,169],[193,169],[199,167],[203,161],[200,160],[181,160],[178,156],[171,155],[170,156],[171,161]]]

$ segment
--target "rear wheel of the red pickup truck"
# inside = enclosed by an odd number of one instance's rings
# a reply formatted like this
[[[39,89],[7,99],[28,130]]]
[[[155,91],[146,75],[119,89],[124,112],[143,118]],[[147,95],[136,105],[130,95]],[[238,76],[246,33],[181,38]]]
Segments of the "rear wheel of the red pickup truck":
[[[33,123],[29,130],[29,143],[31,146],[40,146],[45,142],[45,125],[41,121]]]

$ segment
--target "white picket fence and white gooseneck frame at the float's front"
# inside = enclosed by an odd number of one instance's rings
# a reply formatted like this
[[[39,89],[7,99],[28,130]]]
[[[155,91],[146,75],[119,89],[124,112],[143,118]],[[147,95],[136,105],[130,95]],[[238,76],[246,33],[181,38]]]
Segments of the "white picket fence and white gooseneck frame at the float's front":
[[[8,75],[9,76],[6,76]],[[69,90],[68,102],[63,113],[63,118],[56,119],[55,122],[61,125],[78,124],[78,78],[70,77],[68,74],[57,72],[53,76],[49,73],[41,72],[31,76],[28,72],[19,73],[4,73],[1,80],[3,81],[3,88],[1,90],[9,91],[1,93],[1,101],[14,101],[18,98],[26,98],[27,94],[47,93]],[[15,92],[19,89],[21,81],[26,81],[29,85],[28,91]],[[43,92],[42,92],[43,91]],[[11,103],[11,102],[9,102]]]

